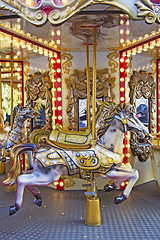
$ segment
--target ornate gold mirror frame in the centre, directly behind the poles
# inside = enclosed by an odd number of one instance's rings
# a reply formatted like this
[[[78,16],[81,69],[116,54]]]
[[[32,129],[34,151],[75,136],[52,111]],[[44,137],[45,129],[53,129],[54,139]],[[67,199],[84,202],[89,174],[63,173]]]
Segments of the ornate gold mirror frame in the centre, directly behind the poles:
[[[90,68],[90,86],[92,91],[93,69]],[[96,97],[103,98],[103,101],[113,102],[115,86],[115,78],[111,77],[108,68],[97,70],[97,89]],[[78,130],[78,98],[87,98],[87,73],[85,71],[74,70],[74,73],[65,79],[69,93],[67,96],[68,107],[67,114],[69,116],[70,126],[69,129]],[[92,94],[92,93],[91,93]],[[74,122],[74,124],[73,124]]]

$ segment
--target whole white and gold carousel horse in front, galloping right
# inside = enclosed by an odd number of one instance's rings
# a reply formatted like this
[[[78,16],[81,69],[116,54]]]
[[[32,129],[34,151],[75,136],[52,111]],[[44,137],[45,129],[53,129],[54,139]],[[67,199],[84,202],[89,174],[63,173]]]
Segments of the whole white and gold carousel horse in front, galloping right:
[[[25,187],[35,196],[35,204],[41,206],[41,195],[35,185],[51,184],[67,174],[84,180],[97,176],[116,180],[113,185],[108,185],[106,191],[114,190],[129,179],[125,190],[115,197],[114,202],[119,204],[125,201],[139,177],[138,171],[132,169],[129,163],[122,164],[123,136],[126,131],[136,132],[139,138],[149,134],[130,106],[123,103],[116,106],[104,119],[104,124],[97,130],[97,140],[90,144],[67,145],[45,138],[46,142],[43,144],[24,143],[14,146],[10,156],[12,168],[9,177],[3,181],[5,186],[17,182],[16,201],[10,207],[9,214],[20,209]],[[22,174],[19,154],[29,150],[33,151],[33,172]]]

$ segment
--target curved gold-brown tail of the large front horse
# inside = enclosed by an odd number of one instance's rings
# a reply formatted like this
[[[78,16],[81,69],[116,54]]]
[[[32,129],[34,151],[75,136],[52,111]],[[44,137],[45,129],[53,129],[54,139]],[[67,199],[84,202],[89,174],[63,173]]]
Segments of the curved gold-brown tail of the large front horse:
[[[33,151],[36,145],[32,143],[22,143],[14,145],[10,150],[11,170],[8,178],[2,182],[4,186],[11,186],[16,183],[17,177],[22,173],[20,154],[26,151]]]

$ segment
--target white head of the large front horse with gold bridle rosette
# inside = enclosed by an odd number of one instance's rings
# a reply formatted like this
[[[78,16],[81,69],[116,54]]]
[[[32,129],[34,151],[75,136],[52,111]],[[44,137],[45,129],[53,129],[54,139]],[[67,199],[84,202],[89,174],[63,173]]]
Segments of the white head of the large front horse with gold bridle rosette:
[[[124,133],[127,131],[135,132],[139,138],[144,139],[146,135],[150,135],[149,130],[136,117],[132,108],[129,104],[120,103],[114,109],[115,118],[122,123]]]

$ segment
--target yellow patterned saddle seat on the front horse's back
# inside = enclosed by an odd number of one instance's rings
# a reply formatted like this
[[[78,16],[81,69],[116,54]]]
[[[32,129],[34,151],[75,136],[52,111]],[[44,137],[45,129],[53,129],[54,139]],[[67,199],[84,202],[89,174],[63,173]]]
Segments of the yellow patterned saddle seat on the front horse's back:
[[[66,144],[88,144],[91,140],[91,130],[86,131],[68,131],[64,130],[59,124],[56,124],[56,129],[49,136],[51,141],[66,143]]]

